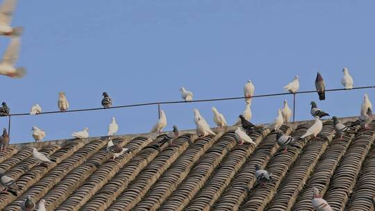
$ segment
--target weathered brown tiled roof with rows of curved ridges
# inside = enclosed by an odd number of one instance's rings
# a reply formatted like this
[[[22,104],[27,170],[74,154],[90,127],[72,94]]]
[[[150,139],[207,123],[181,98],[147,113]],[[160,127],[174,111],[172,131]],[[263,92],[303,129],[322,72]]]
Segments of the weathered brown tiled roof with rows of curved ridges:
[[[281,130],[299,137],[311,124]],[[120,135],[114,142],[130,151],[114,161],[108,137],[10,145],[0,151],[0,170],[21,191],[0,193],[0,210],[19,210],[31,196],[44,199],[47,210],[306,211],[313,210],[313,187],[333,210],[374,210],[374,123],[340,138],[326,120],[317,138],[286,153],[269,129],[251,133],[256,145],[238,145],[233,128],[216,131],[215,137],[182,133],[162,146],[147,135]],[[39,164],[27,146],[56,162]],[[272,183],[256,184],[255,164],[272,174]]]

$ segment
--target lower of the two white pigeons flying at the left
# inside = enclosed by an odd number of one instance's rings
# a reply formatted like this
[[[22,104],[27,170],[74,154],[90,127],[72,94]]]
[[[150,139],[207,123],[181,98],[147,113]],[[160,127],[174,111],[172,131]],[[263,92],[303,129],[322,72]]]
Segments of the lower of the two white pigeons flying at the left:
[[[10,40],[8,49],[6,49],[3,54],[3,60],[0,62],[1,75],[9,76],[11,78],[22,78],[26,74],[26,69],[24,67],[15,67],[18,60],[20,42],[19,37],[13,37]]]

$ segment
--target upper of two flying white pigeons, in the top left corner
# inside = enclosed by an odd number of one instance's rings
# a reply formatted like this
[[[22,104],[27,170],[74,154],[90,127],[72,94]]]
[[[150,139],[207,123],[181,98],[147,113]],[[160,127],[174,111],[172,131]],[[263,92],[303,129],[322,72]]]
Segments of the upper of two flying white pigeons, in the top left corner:
[[[17,0],[4,0],[0,7],[0,35],[19,36],[22,33],[21,27],[12,28],[10,22],[15,11]]]

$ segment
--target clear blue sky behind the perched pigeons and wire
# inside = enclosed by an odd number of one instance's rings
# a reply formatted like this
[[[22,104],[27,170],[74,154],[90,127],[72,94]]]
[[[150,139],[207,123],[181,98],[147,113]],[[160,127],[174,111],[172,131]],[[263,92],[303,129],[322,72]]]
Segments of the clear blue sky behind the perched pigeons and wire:
[[[33,103],[57,110],[64,91],[71,109],[100,106],[108,92],[114,105],[181,100],[179,87],[194,99],[242,96],[251,79],[256,94],[283,92],[298,74],[300,90],[313,90],[317,70],[326,87],[341,88],[342,67],[355,86],[375,85],[375,1],[47,1],[19,0],[13,26],[23,26],[17,66],[22,79],[0,77],[1,101],[11,112]],[[8,45],[0,37],[0,49]],[[297,96],[296,119],[313,119],[310,101],[331,115],[358,115],[363,94],[374,90]],[[254,123],[273,121],[283,99],[253,100]],[[193,108],[213,126],[211,106],[233,124],[243,100],[163,105],[167,130],[194,128]],[[11,142],[31,142],[32,126],[45,140],[69,138],[83,127],[106,135],[111,117],[119,134],[148,132],[157,106],[12,117]],[[1,117],[0,126],[8,127]]]

